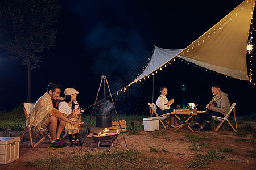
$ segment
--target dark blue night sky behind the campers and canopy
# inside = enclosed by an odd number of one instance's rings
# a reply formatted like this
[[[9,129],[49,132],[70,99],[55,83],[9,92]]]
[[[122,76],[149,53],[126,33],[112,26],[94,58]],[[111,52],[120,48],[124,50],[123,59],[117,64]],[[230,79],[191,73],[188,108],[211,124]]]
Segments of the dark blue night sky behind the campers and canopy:
[[[185,48],[241,2],[60,1],[55,46],[40,53],[43,62],[31,73],[32,100],[38,100],[50,82],[59,82],[61,96],[65,88],[76,88],[80,107],[89,107],[96,99],[101,75],[107,76],[112,92],[119,90],[137,77],[154,45]],[[20,62],[0,49],[0,110],[9,111],[27,99],[27,67]],[[151,77],[113,97],[119,114],[149,115],[152,91],[155,102],[159,87],[167,86],[167,98],[175,99],[175,108],[192,101],[204,109],[213,97],[209,86],[214,82],[221,83],[231,104],[237,103],[238,115],[255,112],[256,90],[251,83],[202,71],[178,59],[155,75],[154,88]]]

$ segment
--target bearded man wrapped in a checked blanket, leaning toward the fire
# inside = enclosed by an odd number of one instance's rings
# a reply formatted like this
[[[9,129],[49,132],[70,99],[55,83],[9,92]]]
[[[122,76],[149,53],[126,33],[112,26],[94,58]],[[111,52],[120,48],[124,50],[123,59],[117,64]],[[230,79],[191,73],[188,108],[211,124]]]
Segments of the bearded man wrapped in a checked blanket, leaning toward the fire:
[[[60,134],[65,128],[66,122],[73,125],[84,124],[83,122],[71,121],[65,114],[56,108],[60,96],[60,84],[49,83],[47,92],[36,101],[35,107],[28,118],[28,128],[40,130],[48,129],[52,139],[52,147],[61,148],[68,144],[60,141]]]

